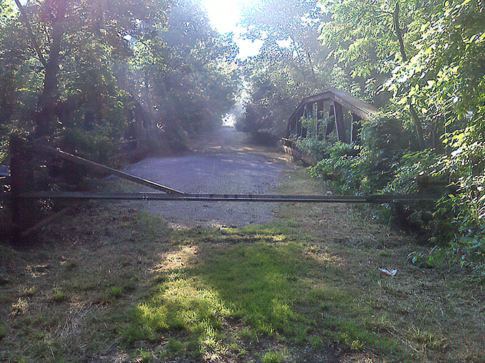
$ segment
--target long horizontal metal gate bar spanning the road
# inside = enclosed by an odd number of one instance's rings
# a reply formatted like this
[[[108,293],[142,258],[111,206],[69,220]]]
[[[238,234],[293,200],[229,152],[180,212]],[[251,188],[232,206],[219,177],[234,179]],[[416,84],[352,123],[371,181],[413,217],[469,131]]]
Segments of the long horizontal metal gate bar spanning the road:
[[[385,204],[410,201],[436,201],[438,195],[390,195],[369,196],[342,195],[273,195],[273,194],[163,194],[163,193],[80,193],[80,192],[36,192],[21,195],[26,199],[101,199],[101,200],[146,200],[146,201],[259,201],[295,203],[368,203]]]

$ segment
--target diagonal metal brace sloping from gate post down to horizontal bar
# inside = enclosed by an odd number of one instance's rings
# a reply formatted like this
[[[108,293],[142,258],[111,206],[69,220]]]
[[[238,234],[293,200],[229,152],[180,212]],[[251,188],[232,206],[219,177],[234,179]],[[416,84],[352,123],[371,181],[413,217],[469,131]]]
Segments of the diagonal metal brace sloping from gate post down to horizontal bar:
[[[133,183],[148,186],[155,190],[164,191],[165,193],[168,193],[168,194],[178,194],[178,195],[183,194],[183,191],[178,191],[178,190],[169,188],[168,186],[155,183],[155,181],[150,181],[140,177],[135,177],[134,175],[128,174],[126,172],[121,172],[120,170],[116,170],[111,167],[106,167],[105,165],[98,164],[97,162],[91,162],[91,160],[84,159],[83,157],[78,157],[73,154],[69,154],[68,152],[63,152],[60,149],[54,149],[53,147],[48,147],[44,144],[39,144],[39,143],[36,144],[36,148],[47,152],[51,152],[52,154],[55,154],[56,156],[61,157],[62,159],[68,160],[70,162],[75,162],[76,164],[81,164],[91,169],[98,169],[103,172],[107,172],[108,174],[116,175],[116,177],[133,181]]]

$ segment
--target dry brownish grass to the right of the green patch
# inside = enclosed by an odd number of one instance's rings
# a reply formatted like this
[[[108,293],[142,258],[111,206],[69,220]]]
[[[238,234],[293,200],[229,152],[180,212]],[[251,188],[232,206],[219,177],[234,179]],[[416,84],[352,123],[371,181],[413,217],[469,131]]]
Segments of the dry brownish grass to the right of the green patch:
[[[301,180],[302,194],[327,191],[305,175],[294,179]],[[293,185],[288,182],[283,191]],[[342,285],[384,317],[376,329],[414,352],[417,361],[485,362],[483,272],[418,268],[409,253],[427,248],[414,236],[377,223],[372,206],[294,205],[283,215],[296,221],[307,254],[338,268]],[[379,268],[397,269],[397,274]]]

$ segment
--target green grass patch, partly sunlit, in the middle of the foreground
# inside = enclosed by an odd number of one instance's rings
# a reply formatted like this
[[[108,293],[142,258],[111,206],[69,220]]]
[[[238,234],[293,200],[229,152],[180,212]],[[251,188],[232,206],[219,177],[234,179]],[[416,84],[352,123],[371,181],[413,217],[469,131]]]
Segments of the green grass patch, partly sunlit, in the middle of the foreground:
[[[184,233],[190,243],[199,239],[209,245],[203,262],[155,278],[150,294],[132,312],[126,342],[158,340],[182,330],[188,337],[179,353],[218,352],[230,345],[224,322],[236,320],[245,325],[238,333],[242,340],[274,337],[313,349],[330,340],[402,356],[382,334],[384,321],[376,320],[370,304],[362,306],[335,284],[339,271],[305,257],[302,245],[278,228]],[[223,247],[212,247],[221,242]],[[284,362],[274,352],[262,359]]]

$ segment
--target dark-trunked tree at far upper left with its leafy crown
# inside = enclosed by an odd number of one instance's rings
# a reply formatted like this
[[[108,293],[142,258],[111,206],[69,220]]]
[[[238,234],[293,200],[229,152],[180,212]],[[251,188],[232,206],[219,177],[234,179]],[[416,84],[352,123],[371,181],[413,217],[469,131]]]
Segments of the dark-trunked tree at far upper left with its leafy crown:
[[[76,62],[86,61],[84,56],[91,51],[96,53],[103,48],[111,55],[128,56],[126,37],[139,33],[139,24],[143,21],[161,21],[166,8],[166,4],[164,7],[160,2],[142,0],[128,4],[123,1],[45,0],[28,6],[22,6],[17,0],[16,4],[29,34],[30,46],[44,73],[33,117],[38,136],[54,132],[62,106],[59,78],[76,78],[75,73],[68,73],[69,70],[76,67],[73,65]],[[34,31],[31,23],[36,24]],[[108,69],[108,64],[104,67]]]

